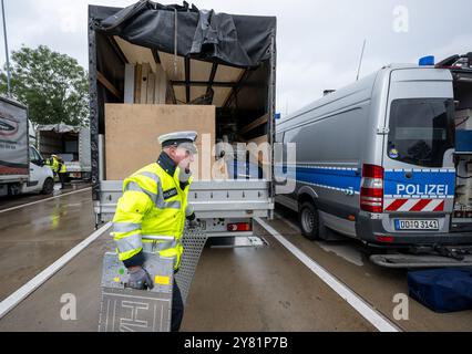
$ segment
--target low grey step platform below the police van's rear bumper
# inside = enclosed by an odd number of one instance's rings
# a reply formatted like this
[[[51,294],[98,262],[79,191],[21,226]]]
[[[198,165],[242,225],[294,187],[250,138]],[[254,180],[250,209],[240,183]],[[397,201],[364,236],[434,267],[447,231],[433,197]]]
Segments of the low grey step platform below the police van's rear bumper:
[[[464,256],[462,260],[441,256],[373,254],[370,260],[380,267],[398,269],[472,267],[472,254]]]

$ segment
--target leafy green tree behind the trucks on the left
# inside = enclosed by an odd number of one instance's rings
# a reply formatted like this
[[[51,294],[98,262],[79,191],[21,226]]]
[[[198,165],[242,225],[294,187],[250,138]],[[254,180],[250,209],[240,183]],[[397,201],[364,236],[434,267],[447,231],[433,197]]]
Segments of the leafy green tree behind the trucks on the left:
[[[89,83],[78,61],[51,51],[22,46],[12,52],[12,95],[29,106],[37,124],[89,125]],[[0,73],[0,92],[7,94],[7,73]]]

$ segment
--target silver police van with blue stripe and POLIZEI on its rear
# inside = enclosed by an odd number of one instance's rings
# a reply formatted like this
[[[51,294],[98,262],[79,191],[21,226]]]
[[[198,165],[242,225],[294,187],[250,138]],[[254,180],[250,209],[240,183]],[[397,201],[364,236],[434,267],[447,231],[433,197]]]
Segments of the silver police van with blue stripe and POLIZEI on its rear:
[[[472,263],[470,69],[384,66],[277,125],[297,155],[276,165],[296,181],[276,201],[304,236],[394,250],[371,257],[386,267]]]

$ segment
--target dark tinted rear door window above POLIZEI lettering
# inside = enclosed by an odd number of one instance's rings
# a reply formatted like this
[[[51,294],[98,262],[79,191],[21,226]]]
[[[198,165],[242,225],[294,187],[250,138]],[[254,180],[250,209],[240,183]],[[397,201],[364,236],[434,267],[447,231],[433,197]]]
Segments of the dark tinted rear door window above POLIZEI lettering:
[[[402,163],[442,167],[454,146],[454,102],[410,98],[392,102],[387,155]]]

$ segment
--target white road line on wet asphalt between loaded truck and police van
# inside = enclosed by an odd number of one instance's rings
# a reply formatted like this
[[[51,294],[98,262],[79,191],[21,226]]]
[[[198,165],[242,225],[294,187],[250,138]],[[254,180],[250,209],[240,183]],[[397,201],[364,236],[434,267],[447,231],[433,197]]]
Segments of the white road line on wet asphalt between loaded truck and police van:
[[[307,254],[296,248],[277,230],[275,230],[267,222],[260,218],[255,220],[265,228],[271,236],[274,236],[287,250],[289,250],[299,261],[308,267],[316,275],[318,275],[328,287],[338,293],[339,296],[345,299],[362,317],[369,321],[380,332],[401,332],[401,330],[391,323],[381,313],[372,309],[363,299],[357,295],[346,284],[336,279],[331,273],[324,269],[320,264],[310,259]]]

